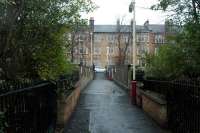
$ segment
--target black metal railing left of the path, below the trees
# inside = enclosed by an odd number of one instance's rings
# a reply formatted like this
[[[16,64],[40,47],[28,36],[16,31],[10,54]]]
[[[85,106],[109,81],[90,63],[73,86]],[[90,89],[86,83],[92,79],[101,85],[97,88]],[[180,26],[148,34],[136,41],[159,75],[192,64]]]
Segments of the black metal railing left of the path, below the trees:
[[[26,86],[16,83],[18,86]],[[14,89],[0,94],[0,112],[5,115],[4,132],[54,132],[56,123],[56,85],[43,82],[31,87]]]

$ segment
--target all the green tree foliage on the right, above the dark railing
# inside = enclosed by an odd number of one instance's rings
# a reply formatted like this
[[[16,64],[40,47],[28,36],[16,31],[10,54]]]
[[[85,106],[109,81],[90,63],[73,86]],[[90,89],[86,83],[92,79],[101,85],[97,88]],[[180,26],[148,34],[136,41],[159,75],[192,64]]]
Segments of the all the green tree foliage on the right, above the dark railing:
[[[148,55],[146,76],[161,79],[200,76],[200,2],[198,0],[160,0],[153,9],[174,13],[172,26],[181,30],[156,55]],[[178,23],[177,23],[178,22]],[[172,41],[175,43],[172,43]]]

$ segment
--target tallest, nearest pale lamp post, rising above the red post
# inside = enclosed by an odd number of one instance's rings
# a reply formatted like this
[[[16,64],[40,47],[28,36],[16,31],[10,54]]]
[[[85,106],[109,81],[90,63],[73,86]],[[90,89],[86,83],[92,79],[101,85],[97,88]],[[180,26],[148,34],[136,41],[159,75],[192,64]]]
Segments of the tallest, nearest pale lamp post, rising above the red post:
[[[133,80],[135,80],[136,44],[135,44],[135,0],[129,5],[129,12],[133,13]]]

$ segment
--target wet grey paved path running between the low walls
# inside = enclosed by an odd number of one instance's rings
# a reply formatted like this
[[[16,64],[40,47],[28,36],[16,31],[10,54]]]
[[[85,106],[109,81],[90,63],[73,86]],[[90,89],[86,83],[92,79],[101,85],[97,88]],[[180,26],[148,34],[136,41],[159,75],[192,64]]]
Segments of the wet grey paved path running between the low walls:
[[[102,74],[82,92],[65,133],[165,133]]]

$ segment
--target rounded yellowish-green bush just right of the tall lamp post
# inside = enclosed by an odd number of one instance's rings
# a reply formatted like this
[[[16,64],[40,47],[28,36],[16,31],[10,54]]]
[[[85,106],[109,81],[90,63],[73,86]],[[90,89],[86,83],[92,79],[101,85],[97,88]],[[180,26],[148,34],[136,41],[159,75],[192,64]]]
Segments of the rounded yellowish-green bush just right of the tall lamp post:
[[[179,46],[164,45],[155,55],[146,57],[146,77],[173,79],[181,76],[184,70],[184,55]]]

